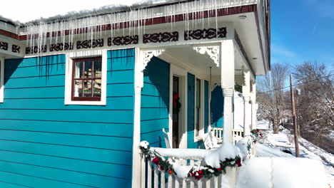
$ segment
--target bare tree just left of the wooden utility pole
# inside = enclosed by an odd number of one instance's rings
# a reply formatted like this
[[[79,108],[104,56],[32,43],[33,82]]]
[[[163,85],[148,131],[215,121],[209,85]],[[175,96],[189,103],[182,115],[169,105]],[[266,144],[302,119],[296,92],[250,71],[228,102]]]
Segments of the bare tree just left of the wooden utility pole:
[[[287,115],[286,103],[284,103],[284,83],[288,78],[288,66],[275,63],[270,74],[257,80],[257,101],[262,115],[273,123],[273,132],[278,134],[279,125],[283,117]]]

